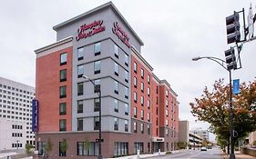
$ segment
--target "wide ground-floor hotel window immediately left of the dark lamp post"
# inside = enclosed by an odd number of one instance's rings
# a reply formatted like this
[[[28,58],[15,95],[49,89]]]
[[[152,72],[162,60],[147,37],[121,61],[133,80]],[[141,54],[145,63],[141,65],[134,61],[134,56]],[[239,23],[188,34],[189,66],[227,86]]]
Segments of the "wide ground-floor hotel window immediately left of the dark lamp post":
[[[98,154],[98,145],[95,142],[77,142],[77,155],[91,155]]]

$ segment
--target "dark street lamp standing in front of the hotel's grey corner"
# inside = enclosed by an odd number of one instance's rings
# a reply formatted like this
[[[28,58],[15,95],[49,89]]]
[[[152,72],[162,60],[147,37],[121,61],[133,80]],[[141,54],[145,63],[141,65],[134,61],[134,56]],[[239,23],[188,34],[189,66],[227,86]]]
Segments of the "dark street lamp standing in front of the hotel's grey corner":
[[[99,127],[98,127],[98,155],[97,155],[97,159],[102,159],[102,154],[101,154],[101,91],[100,91],[100,87],[98,87],[89,77],[87,77],[87,75],[83,75],[83,78],[89,80],[89,82],[91,84],[93,84],[94,89],[97,90],[97,95],[99,98],[99,110],[98,110],[98,123],[99,123]]]

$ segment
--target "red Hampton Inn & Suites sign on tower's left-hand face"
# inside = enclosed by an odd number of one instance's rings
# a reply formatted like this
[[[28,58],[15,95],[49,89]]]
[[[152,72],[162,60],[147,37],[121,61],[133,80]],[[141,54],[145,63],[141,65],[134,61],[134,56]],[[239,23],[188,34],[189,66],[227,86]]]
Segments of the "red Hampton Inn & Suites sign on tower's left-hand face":
[[[103,24],[103,20],[94,21],[90,24],[80,25],[80,28],[77,29],[76,40],[86,39],[89,36],[96,35],[100,32],[105,31],[106,27]]]

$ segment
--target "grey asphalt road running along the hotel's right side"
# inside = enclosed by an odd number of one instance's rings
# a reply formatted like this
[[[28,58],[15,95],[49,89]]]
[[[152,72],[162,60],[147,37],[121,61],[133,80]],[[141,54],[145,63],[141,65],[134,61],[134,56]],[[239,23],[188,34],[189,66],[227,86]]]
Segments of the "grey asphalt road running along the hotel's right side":
[[[189,150],[187,152],[183,152],[180,154],[169,154],[165,156],[157,156],[152,158],[158,159],[222,159],[220,154],[220,149],[213,148],[208,149],[207,151],[200,151],[200,150]]]

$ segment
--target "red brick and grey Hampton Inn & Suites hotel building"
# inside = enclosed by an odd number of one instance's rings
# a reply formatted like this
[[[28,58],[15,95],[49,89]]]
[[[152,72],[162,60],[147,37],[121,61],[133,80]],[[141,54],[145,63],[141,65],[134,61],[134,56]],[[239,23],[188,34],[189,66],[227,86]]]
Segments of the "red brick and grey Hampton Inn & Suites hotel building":
[[[178,95],[153,74],[140,53],[142,40],[116,6],[100,5],[53,28],[56,43],[35,51],[38,154],[51,143],[51,158],[96,158],[96,88],[103,157],[174,150]]]

